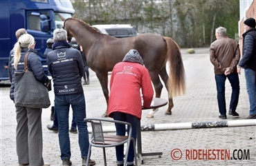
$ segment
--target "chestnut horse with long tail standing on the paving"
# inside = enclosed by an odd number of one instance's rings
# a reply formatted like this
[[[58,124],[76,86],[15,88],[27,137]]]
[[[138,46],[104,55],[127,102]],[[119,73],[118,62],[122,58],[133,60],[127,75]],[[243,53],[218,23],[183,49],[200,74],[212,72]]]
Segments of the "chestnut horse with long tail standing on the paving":
[[[129,50],[135,49],[142,56],[145,68],[149,70],[156,97],[160,98],[163,89],[159,76],[165,83],[169,98],[165,114],[172,114],[172,107],[174,107],[172,96],[185,93],[185,71],[179,45],[170,37],[147,33],[128,38],[116,38],[101,34],[84,21],[75,18],[64,21],[64,30],[68,34],[68,40],[75,37],[77,43],[82,45],[89,68],[95,72],[100,81],[107,106],[108,72],[113,70],[116,63],[122,61]],[[170,65],[170,77],[166,71],[167,61]],[[107,110],[102,117],[107,117]],[[154,116],[151,114],[148,117]]]

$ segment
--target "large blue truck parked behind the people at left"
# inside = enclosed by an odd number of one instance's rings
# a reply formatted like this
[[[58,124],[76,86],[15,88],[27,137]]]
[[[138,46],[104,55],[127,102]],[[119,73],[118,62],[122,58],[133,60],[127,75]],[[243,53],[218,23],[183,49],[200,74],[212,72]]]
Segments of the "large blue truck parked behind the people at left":
[[[63,21],[75,13],[68,0],[1,0],[0,1],[0,81],[8,80],[10,50],[17,42],[15,32],[25,28],[35,37],[35,49],[48,74],[46,64],[47,39],[53,37],[55,28],[62,28]]]

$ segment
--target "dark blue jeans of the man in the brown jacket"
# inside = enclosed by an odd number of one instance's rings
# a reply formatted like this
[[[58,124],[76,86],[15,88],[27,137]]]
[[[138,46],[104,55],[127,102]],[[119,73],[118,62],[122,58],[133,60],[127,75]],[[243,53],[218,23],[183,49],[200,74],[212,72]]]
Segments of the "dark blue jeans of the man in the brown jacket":
[[[236,110],[239,99],[239,77],[237,73],[231,73],[226,76],[225,74],[215,74],[215,81],[217,87],[217,100],[219,105],[219,113],[226,115],[226,99],[225,99],[225,81],[228,77],[228,81],[232,87],[232,94],[230,99],[229,110]]]

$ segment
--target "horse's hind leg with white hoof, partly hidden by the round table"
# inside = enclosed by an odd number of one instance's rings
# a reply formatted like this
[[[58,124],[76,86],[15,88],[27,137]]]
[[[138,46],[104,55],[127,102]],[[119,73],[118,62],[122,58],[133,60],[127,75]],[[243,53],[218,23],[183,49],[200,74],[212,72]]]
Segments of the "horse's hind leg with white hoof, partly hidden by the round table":
[[[154,84],[154,90],[156,92],[156,97],[160,98],[161,97],[161,92],[163,89],[163,84],[161,83],[161,80],[158,76],[157,72],[152,72],[149,71],[150,77],[151,77],[151,81]],[[147,114],[147,118],[154,118],[154,113],[158,111],[157,109],[153,109],[151,112],[149,112],[149,114]]]

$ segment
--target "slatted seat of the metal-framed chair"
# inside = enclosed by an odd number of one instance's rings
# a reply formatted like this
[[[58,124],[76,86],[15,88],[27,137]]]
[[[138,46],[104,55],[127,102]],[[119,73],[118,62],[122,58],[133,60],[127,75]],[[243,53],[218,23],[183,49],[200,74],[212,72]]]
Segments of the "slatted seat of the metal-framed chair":
[[[104,134],[104,143],[97,142],[94,140],[92,140],[91,142],[96,145],[113,145],[113,144],[118,144],[118,143],[121,143],[122,141],[127,141],[127,140],[128,140],[128,136],[116,136],[116,135]]]

